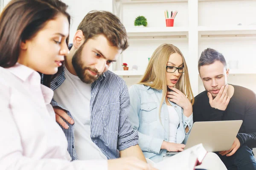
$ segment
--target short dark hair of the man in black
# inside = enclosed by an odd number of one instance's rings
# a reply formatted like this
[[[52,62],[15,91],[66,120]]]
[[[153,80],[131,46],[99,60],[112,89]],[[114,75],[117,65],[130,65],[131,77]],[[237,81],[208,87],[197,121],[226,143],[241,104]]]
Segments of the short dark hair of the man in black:
[[[224,67],[227,67],[227,62],[220,52],[212,48],[205,49],[198,60],[198,71],[201,66],[212,64],[215,61],[220,61]]]

